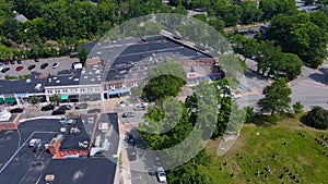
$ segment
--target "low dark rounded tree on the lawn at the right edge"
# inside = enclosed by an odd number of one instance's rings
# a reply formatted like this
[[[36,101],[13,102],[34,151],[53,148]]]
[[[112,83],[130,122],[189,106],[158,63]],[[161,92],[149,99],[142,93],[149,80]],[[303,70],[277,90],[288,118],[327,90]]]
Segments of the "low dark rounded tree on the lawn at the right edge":
[[[326,130],[328,127],[328,110],[315,106],[301,121],[308,126]]]

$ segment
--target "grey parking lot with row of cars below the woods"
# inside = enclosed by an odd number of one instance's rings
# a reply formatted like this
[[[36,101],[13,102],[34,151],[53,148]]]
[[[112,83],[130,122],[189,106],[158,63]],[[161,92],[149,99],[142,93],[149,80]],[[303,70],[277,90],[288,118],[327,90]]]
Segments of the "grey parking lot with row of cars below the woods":
[[[58,68],[52,69],[52,64],[55,62],[58,62],[59,65]],[[71,69],[73,62],[79,62],[79,59],[62,57],[62,58],[39,59],[38,62],[35,62],[34,60],[22,60],[22,64],[17,64],[17,62],[15,62],[14,64],[9,63],[8,65],[5,65],[3,63],[2,65],[0,65],[0,68],[2,69],[9,68],[10,70],[7,71],[5,73],[0,72],[0,79],[4,79],[4,76],[19,76],[19,75],[31,74],[31,72],[37,72],[46,75],[57,74],[59,71]],[[48,66],[45,69],[40,69],[40,65],[43,63],[48,63]],[[32,64],[34,64],[35,68],[28,70],[28,66]],[[21,71],[16,71],[19,66],[23,66],[23,69]]]

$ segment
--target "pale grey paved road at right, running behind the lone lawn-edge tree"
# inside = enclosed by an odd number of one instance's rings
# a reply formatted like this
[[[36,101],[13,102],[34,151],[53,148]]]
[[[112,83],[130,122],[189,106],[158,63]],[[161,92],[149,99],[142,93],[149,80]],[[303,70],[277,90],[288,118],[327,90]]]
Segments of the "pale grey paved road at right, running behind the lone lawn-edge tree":
[[[255,70],[255,62],[246,60],[249,69]],[[249,91],[247,97],[238,99],[239,106],[256,107],[256,102],[263,98],[261,95],[262,88],[270,84],[265,77],[261,77],[253,72],[246,74],[246,84],[244,84]],[[290,83],[292,89],[292,105],[301,101],[304,109],[309,110],[312,106],[320,106],[328,109],[328,61],[326,61],[318,70],[302,68],[302,75]],[[246,103],[247,99],[247,103]]]

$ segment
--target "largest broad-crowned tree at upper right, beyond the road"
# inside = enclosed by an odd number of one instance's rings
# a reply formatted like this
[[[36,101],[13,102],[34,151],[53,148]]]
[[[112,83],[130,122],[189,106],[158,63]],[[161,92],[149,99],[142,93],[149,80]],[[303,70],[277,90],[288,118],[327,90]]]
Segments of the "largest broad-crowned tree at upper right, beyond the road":
[[[306,13],[278,15],[271,21],[267,38],[313,68],[318,68],[327,57],[327,30],[311,22],[311,15]]]

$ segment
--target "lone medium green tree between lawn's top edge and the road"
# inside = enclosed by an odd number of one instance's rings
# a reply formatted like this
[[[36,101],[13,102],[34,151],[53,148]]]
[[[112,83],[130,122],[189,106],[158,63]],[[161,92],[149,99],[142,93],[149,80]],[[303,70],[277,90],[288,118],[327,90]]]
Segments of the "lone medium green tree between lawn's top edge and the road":
[[[258,107],[261,113],[270,113],[271,115],[279,112],[285,112],[290,109],[292,101],[290,95],[292,89],[288,86],[284,78],[279,78],[270,86],[265,87],[265,98],[258,101]]]

